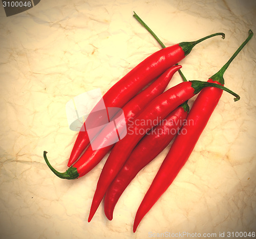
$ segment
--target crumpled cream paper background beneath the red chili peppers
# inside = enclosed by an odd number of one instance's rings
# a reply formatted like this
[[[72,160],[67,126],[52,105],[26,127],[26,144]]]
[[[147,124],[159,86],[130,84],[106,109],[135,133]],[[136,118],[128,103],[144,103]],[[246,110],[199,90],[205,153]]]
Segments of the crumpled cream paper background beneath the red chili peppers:
[[[148,238],[165,232],[221,238],[220,232],[256,230],[255,36],[224,75],[241,100],[223,93],[188,162],[136,233],[137,208],[170,146],[125,190],[112,221],[101,204],[87,222],[107,157],[71,181],[57,178],[46,165],[44,150],[58,171],[67,169],[77,132],[69,129],[66,103],[95,88],[106,92],[160,49],[133,11],[167,46],[226,34],[198,44],[180,62],[188,80],[206,81],[249,29],[256,33],[253,0],[41,0],[10,17],[0,7],[1,238]],[[179,82],[176,74],[168,87]]]

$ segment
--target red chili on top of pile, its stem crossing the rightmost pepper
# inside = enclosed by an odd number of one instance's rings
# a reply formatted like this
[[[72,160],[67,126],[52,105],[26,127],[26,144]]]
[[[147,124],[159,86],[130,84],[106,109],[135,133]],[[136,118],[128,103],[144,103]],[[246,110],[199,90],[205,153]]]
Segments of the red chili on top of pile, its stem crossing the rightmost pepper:
[[[109,185],[122,168],[124,162],[130,156],[134,147],[147,131],[158,124],[156,121],[157,118],[165,118],[179,105],[192,98],[195,94],[199,93],[201,89],[207,86],[219,87],[228,91],[237,97],[234,99],[235,101],[240,99],[239,95],[224,86],[202,81],[182,82],[159,95],[159,97],[148,104],[148,106],[134,119],[134,124],[131,130],[133,133],[127,134],[121,141],[117,142],[112,149],[97,183],[88,219],[89,222],[104,197],[106,189],[108,189]],[[143,122],[143,124],[137,124],[137,122]]]

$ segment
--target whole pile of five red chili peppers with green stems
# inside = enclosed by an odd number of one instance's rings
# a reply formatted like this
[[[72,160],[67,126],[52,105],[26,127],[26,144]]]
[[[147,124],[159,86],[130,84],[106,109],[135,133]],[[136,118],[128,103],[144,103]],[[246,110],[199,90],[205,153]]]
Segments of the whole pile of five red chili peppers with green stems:
[[[68,162],[70,168],[65,173],[57,172],[50,165],[46,151],[44,158],[49,168],[59,178],[76,179],[90,172],[111,151],[97,183],[88,222],[92,220],[104,196],[105,216],[112,220],[115,205],[125,188],[176,136],[138,208],[133,227],[135,232],[142,218],[172,184],[187,161],[223,90],[233,94],[236,97],[234,101],[240,99],[239,95],[224,87],[223,75],[253,33],[249,30],[247,39],[207,82],[187,81],[180,71],[181,65],[178,65],[178,62],[199,42],[218,35],[224,39],[225,34],[216,33],[197,41],[181,42],[165,47],[136,13],[134,17],[157,39],[163,49],[139,63],[103,95],[106,107],[118,107],[123,110],[125,121],[120,120],[116,123],[119,132],[127,127],[132,133],[126,134],[116,144],[103,147],[105,140],[113,139],[116,128],[102,128],[94,138],[102,147],[93,150],[84,122],[83,130],[79,131]],[[179,71],[183,82],[164,91],[176,71]],[[147,86],[151,82],[153,83]],[[143,89],[145,86],[147,87]],[[189,111],[187,101],[198,93]],[[110,113],[109,117],[113,118],[114,113],[112,115]],[[184,124],[185,121],[193,124]],[[94,119],[94,126],[102,124],[102,117]],[[185,133],[177,133],[181,130]]]

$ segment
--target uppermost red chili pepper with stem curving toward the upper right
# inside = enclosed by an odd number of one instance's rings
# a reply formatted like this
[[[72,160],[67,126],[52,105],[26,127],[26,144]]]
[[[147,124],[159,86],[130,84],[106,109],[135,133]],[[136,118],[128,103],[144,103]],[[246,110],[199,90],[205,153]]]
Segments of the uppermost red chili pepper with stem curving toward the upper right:
[[[218,35],[222,35],[223,39],[225,38],[224,33],[211,34],[197,41],[181,42],[153,53],[133,68],[103,95],[105,106],[122,108],[140,89],[162,74],[170,66],[175,65],[187,56],[196,44]],[[110,115],[110,118],[112,118],[112,116],[113,115]],[[95,126],[102,125],[101,121],[102,118],[95,119]],[[94,126],[92,125],[91,127]],[[84,122],[72,149],[68,166],[71,166],[78,159],[83,150],[89,145],[89,142],[86,122]]]

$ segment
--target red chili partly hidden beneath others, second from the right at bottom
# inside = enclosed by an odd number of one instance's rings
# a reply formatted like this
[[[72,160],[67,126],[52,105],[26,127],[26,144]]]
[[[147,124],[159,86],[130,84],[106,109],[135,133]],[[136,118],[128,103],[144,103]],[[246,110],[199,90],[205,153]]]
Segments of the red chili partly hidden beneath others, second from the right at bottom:
[[[125,188],[135,176],[158,154],[160,154],[174,136],[178,133],[186,120],[189,111],[187,102],[168,114],[159,125],[146,134],[132,151],[114,181],[106,191],[104,199],[105,216],[113,219],[115,205]]]

